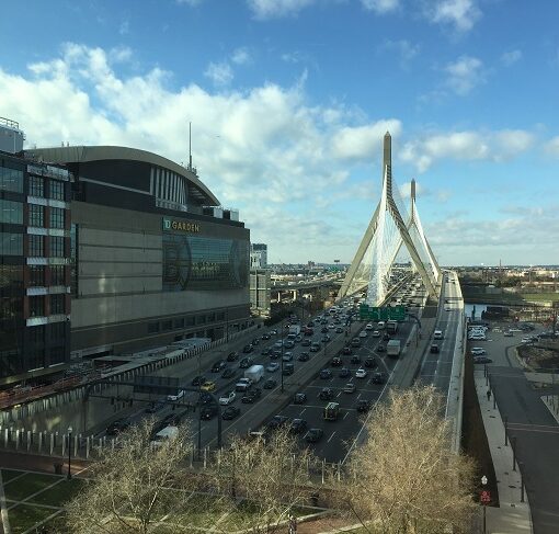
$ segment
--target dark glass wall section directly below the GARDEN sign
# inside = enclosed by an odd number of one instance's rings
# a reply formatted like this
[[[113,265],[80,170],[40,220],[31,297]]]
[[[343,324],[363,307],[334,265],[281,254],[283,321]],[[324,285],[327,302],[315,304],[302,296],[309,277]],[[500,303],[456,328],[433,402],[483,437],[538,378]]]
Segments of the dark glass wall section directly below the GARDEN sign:
[[[249,243],[163,232],[163,291],[248,285]]]

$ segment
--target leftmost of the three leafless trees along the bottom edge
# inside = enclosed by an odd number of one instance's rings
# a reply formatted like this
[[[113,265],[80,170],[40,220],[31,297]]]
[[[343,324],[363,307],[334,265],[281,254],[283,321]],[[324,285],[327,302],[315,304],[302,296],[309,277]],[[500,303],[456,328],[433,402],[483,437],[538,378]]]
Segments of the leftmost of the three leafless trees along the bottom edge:
[[[70,532],[147,533],[180,508],[187,484],[180,468],[190,451],[187,434],[180,428],[175,438],[155,445],[152,425],[148,420],[133,427],[123,434],[121,447],[102,453],[85,487],[67,507]],[[164,532],[172,527],[166,525]]]

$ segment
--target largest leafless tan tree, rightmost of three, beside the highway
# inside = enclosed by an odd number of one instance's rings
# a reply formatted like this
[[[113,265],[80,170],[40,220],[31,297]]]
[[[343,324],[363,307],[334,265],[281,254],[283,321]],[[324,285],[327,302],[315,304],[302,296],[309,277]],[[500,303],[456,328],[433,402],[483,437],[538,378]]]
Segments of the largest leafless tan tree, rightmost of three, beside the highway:
[[[474,464],[452,451],[443,398],[433,387],[392,391],[350,457],[342,501],[370,532],[459,532],[474,511]]]

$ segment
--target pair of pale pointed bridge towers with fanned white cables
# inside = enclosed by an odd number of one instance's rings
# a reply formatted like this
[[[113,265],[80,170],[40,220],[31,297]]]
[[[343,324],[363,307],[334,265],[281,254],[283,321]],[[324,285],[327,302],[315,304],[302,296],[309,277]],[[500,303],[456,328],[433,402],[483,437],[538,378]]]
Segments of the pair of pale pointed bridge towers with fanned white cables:
[[[423,232],[415,205],[415,181],[411,184],[408,215],[392,182],[392,139],[387,132],[383,145],[383,193],[338,294],[339,298],[367,288],[367,303],[380,305],[390,286],[392,265],[402,246],[432,297],[437,297],[441,269]]]

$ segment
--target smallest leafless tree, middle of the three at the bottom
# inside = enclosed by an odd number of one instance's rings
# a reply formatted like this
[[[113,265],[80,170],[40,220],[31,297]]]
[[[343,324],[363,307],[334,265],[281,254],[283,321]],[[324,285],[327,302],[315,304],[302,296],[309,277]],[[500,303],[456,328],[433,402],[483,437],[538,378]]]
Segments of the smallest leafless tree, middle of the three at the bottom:
[[[267,533],[296,507],[309,503],[313,461],[288,429],[278,429],[266,440],[235,438],[223,452],[214,477],[220,491],[230,497],[228,511],[237,516],[246,513],[244,527],[250,532]],[[219,521],[207,526],[227,532]]]

